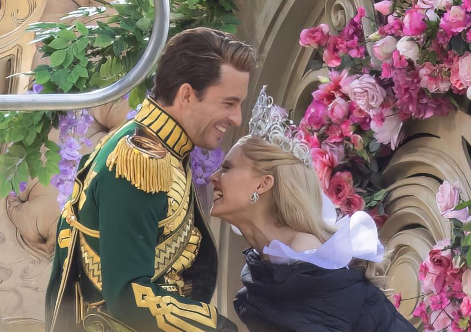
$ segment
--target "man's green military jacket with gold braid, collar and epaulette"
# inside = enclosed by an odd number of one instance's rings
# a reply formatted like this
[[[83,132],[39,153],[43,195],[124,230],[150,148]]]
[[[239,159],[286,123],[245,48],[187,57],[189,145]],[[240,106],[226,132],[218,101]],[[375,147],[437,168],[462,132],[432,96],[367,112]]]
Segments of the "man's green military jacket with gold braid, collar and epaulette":
[[[57,226],[47,331],[218,331],[205,303],[217,259],[194,206],[192,149],[147,99],[82,159]]]

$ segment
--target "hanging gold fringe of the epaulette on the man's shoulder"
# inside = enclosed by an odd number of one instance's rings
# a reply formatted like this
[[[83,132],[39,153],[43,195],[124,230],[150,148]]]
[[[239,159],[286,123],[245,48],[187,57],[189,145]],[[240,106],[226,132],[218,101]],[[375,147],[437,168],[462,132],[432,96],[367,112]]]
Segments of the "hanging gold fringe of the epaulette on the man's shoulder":
[[[116,165],[116,178],[131,181],[136,188],[146,193],[169,191],[173,183],[170,153],[163,158],[154,158],[128,144],[123,137],[106,159],[108,170]]]

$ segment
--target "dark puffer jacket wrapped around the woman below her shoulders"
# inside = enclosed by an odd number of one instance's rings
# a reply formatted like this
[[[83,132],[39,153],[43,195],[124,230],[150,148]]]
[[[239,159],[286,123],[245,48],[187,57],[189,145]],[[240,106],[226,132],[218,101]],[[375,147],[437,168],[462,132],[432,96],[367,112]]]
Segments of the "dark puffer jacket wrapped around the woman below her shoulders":
[[[234,306],[250,331],[417,331],[358,270],[273,264],[253,249],[245,260]]]

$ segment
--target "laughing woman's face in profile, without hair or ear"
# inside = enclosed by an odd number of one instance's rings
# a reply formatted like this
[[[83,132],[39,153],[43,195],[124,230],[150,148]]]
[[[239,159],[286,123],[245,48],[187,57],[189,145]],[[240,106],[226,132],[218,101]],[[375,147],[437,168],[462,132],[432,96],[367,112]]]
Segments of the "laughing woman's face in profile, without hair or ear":
[[[253,174],[253,166],[236,144],[222,162],[221,168],[211,175],[214,201],[211,216],[232,223],[250,208],[250,197],[257,190],[260,178]]]

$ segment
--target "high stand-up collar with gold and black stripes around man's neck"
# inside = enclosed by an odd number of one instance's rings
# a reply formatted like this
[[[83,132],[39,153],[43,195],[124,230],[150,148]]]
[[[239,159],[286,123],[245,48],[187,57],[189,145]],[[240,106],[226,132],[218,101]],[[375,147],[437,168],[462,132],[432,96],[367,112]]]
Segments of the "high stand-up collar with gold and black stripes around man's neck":
[[[142,103],[134,121],[157,135],[159,140],[179,159],[193,150],[193,142],[183,128],[151,98]]]

